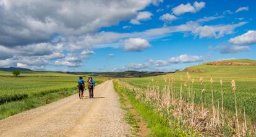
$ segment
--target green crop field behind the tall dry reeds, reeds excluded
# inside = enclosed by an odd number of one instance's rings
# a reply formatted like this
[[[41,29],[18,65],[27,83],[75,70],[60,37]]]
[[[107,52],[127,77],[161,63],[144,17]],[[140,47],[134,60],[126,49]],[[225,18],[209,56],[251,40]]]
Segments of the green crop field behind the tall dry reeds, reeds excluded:
[[[243,62],[243,60],[236,60],[236,62]],[[245,60],[245,62],[250,62]],[[254,62],[254,61],[253,61]],[[148,85],[157,85],[160,87],[160,92],[163,91],[164,86],[170,85],[170,79],[174,78],[173,90],[174,98],[179,99],[180,88],[182,86],[182,97],[186,102],[187,98],[191,98],[189,91],[192,86],[192,79],[194,79],[193,90],[195,93],[194,102],[200,106],[201,104],[201,90],[206,89],[203,94],[203,105],[211,112],[211,104],[214,104],[217,108],[218,99],[221,104],[221,85],[220,80],[223,80],[223,104],[224,113],[231,120],[236,119],[234,91],[231,87],[231,81],[236,80],[236,102],[237,102],[237,115],[239,122],[244,120],[244,109],[247,117],[247,123],[256,123],[256,66],[254,65],[194,65],[192,68],[198,68],[203,72],[189,73],[191,79],[188,80],[186,72],[177,72],[171,75],[163,75],[157,77],[147,78],[123,78],[122,81],[126,81],[132,86],[140,89],[147,89]],[[182,80],[181,80],[182,75]],[[203,78],[202,86],[200,84],[200,78]],[[213,78],[213,96],[212,102],[211,83],[210,79]],[[153,80],[153,83],[152,83]],[[187,85],[186,87],[184,85]],[[189,88],[190,87],[190,88]],[[221,107],[221,106],[220,106]],[[236,127],[236,125],[231,125]],[[255,128],[255,127],[254,127]],[[255,129],[254,129],[255,130]],[[224,132],[224,131],[222,131]],[[234,131],[226,131],[226,135],[232,135]]]

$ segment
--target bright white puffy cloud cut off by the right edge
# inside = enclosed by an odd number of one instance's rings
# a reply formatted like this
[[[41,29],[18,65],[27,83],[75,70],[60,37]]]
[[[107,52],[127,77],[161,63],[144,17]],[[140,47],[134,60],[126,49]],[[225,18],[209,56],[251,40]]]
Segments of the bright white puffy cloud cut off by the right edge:
[[[229,43],[242,45],[256,44],[256,31],[249,30],[247,31],[247,33],[244,33],[243,35],[229,39]]]

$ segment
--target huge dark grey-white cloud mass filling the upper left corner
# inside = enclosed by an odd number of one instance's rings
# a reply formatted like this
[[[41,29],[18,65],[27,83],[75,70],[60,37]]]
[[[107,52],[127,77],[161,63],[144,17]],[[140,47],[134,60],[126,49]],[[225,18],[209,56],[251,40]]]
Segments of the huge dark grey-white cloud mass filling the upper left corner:
[[[82,35],[129,20],[150,0],[1,0],[0,44],[47,43],[55,33]],[[155,1],[156,4],[156,1]],[[40,7],[40,8],[35,8]],[[104,10],[103,10],[104,9]]]

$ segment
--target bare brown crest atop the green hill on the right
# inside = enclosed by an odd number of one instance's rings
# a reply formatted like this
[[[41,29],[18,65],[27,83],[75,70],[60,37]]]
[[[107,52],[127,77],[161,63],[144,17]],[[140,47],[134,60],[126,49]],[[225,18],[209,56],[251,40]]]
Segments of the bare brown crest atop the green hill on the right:
[[[231,59],[231,60],[220,60],[214,62],[206,62],[206,65],[256,65],[256,60],[250,59]]]

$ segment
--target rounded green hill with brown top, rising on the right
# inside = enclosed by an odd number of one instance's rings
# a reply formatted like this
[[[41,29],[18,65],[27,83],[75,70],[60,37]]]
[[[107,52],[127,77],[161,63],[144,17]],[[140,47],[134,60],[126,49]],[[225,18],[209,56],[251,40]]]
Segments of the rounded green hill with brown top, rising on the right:
[[[183,72],[192,72],[192,75],[200,75],[202,77],[211,76],[216,78],[235,78],[237,80],[256,80],[256,65],[252,64],[256,64],[256,60],[223,60],[221,62],[216,61],[193,65],[185,68]]]

